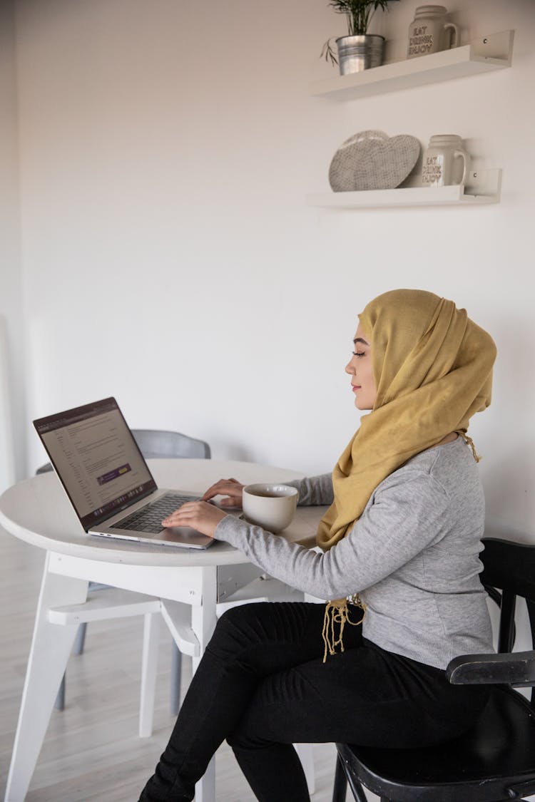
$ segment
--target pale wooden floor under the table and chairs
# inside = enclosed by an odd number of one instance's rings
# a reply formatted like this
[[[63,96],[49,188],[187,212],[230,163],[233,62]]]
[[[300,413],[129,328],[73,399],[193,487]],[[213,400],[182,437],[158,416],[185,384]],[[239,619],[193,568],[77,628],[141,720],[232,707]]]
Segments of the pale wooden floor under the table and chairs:
[[[0,798],[3,799],[44,553],[0,529]],[[137,802],[171,731],[170,636],[162,627],[154,734],[137,735],[143,622],[91,624],[67,668],[67,703],[53,711],[27,802]],[[182,685],[190,662],[184,658]],[[334,747],[314,747],[314,802],[330,802]],[[232,751],[217,752],[217,802],[253,802]],[[349,795],[348,795],[349,796]],[[375,800],[376,797],[369,795]],[[274,800],[279,802],[279,800]],[[280,800],[284,802],[284,800]]]

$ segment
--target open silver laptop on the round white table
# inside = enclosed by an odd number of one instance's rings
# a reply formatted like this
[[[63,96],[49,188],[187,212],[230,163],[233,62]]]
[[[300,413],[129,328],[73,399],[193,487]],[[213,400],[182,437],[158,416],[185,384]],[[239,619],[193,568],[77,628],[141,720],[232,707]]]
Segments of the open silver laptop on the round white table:
[[[116,399],[34,420],[83,529],[97,537],[207,549],[208,535],[161,520],[198,496],[158,488]]]

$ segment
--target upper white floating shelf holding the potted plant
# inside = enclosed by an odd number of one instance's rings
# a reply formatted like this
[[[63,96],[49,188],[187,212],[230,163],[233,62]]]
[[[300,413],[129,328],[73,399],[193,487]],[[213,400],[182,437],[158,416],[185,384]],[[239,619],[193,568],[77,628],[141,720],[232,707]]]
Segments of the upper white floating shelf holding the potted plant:
[[[513,30],[504,30],[499,34],[474,39],[472,43],[452,50],[316,81],[311,84],[311,92],[334,100],[351,100],[502,70],[511,66],[513,38]]]

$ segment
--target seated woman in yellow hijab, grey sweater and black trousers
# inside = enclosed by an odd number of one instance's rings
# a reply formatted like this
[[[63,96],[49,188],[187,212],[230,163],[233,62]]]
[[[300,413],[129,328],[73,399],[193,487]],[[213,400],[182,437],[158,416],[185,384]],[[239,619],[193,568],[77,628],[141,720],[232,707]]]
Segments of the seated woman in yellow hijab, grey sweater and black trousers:
[[[488,691],[452,686],[444,670],[456,655],[492,650],[479,579],[484,497],[466,431],[490,403],[494,343],[451,301],[394,290],[359,315],[354,346],[346,371],[355,406],[371,414],[332,478],[291,483],[301,504],[330,504],[323,553],[207,503],[239,503],[237,480],[164,520],[331,601],[221,617],[140,802],[192,800],[223,739],[258,800],[308,802],[292,743],[440,743],[484,707]]]

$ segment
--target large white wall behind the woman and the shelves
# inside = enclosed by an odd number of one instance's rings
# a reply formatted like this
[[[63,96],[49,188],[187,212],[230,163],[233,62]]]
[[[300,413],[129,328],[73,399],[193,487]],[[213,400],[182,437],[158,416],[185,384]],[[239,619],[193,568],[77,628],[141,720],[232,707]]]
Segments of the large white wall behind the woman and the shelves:
[[[418,3],[379,22],[391,55]],[[464,41],[514,28],[513,68],[334,103],[308,88],[343,33],[322,0],[19,0],[27,419],[113,394],[133,427],[215,457],[329,470],[358,426],[356,314],[432,290],[496,338],[471,431],[490,518],[533,539],[535,6],[450,10]],[[501,204],[308,208],[369,128],[460,134],[476,167],[503,168]]]

